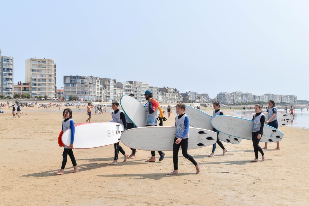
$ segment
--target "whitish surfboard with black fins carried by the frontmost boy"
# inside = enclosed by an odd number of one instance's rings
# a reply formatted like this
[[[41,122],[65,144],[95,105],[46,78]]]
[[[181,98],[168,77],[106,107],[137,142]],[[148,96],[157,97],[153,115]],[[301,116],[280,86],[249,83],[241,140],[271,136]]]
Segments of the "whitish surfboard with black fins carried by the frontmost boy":
[[[134,149],[150,151],[173,150],[176,128],[174,126],[162,126],[129,129],[122,132],[121,142]],[[200,128],[189,128],[188,149],[212,145],[216,143],[216,139],[216,132]]]

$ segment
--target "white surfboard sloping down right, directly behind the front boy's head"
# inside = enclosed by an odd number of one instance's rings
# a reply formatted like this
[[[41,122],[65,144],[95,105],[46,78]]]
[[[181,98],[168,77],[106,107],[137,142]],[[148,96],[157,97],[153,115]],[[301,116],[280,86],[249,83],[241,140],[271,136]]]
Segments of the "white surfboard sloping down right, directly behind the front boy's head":
[[[210,116],[209,114],[188,105],[186,105],[186,110],[184,111],[184,113],[189,116],[191,127],[204,128],[212,131],[212,116]],[[239,137],[232,137],[231,135],[222,132],[219,132],[218,137],[219,140],[232,144],[239,144],[242,140]]]

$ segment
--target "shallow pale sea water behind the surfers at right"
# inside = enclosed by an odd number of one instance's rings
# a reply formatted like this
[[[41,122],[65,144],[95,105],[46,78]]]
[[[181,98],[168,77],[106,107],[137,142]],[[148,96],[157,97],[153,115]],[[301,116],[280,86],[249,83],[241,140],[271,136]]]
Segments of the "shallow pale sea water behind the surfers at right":
[[[263,111],[265,111],[265,109]],[[284,109],[278,109],[278,112],[285,113]],[[254,113],[254,110],[246,109],[245,111],[235,110],[231,112],[231,114],[238,116],[238,117],[242,117],[244,115],[251,114],[251,113]],[[289,110],[287,114],[290,114]],[[286,127],[301,127],[301,128],[309,129],[309,111],[307,110],[307,108],[304,108],[303,111],[301,111],[301,109],[296,109],[294,111],[294,116],[295,116],[294,118],[292,116],[291,123],[287,125]]]

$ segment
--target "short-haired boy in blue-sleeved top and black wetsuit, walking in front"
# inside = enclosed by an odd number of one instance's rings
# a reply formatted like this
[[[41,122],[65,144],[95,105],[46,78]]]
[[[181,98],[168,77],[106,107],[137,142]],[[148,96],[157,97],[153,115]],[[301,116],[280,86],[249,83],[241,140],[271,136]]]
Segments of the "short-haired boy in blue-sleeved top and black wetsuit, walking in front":
[[[178,174],[178,152],[181,146],[182,155],[190,160],[196,168],[196,174],[199,174],[200,164],[198,164],[194,158],[188,154],[188,141],[189,141],[189,117],[184,113],[186,109],[186,105],[184,103],[179,103],[176,105],[177,116],[175,118],[175,126],[177,127],[175,133],[175,139],[173,144],[173,163],[174,163],[174,170],[171,174]]]

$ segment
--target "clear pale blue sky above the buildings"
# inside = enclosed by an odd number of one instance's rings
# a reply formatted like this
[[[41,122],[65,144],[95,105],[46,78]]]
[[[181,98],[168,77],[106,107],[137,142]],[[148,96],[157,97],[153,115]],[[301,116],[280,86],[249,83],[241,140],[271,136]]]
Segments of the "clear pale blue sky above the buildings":
[[[2,56],[64,75],[309,100],[309,1],[4,1]]]

